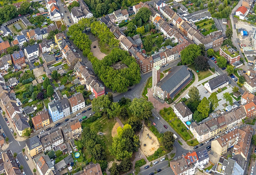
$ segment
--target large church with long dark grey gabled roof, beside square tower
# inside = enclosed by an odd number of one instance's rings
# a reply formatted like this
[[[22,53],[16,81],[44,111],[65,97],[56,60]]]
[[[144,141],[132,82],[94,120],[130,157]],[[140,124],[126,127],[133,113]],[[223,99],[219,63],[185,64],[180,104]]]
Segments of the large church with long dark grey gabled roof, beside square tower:
[[[152,74],[152,77],[158,76]],[[172,67],[154,88],[154,96],[160,100],[174,98],[193,78],[187,66]]]

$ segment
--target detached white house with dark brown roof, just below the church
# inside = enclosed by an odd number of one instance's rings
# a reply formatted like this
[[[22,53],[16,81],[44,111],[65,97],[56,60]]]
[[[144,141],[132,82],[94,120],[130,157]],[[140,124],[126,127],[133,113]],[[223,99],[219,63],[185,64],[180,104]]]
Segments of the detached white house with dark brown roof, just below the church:
[[[183,123],[192,120],[193,113],[190,111],[190,109],[187,107],[187,105],[185,105],[183,101],[177,103],[174,106],[173,111]]]

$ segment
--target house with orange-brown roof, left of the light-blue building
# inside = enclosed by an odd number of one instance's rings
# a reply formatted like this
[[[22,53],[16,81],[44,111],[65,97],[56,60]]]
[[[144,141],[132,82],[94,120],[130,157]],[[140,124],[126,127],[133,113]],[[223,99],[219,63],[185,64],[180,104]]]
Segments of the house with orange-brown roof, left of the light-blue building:
[[[31,120],[36,131],[50,125],[50,119],[46,109],[39,111],[36,116],[31,118]]]

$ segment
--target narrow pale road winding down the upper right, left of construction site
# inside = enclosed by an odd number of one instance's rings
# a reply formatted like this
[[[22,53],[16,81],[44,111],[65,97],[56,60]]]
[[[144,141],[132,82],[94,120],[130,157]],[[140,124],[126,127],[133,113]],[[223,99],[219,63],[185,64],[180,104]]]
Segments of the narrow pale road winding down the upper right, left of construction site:
[[[241,58],[243,58],[244,60],[244,65],[245,67],[248,69],[248,64],[246,63],[245,59],[244,59],[244,55],[242,54],[242,51],[240,49],[240,46],[239,46],[239,39],[238,39],[238,36],[237,36],[237,32],[236,32],[236,26],[235,26],[235,23],[234,23],[234,13],[235,11],[238,9],[238,7],[240,7],[242,5],[242,1],[243,0],[240,0],[238,2],[238,4],[232,9],[232,12],[231,14],[229,15],[229,18],[231,20],[231,25],[232,25],[232,31],[233,31],[233,37],[232,37],[232,42],[233,42],[233,45],[237,48],[237,50],[239,51],[239,54],[241,56]]]

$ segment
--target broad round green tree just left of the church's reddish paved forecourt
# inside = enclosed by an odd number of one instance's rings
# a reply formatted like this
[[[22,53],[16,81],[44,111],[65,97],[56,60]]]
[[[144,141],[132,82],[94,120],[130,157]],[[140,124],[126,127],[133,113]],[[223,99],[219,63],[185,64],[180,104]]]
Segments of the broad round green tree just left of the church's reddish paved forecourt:
[[[153,104],[145,98],[134,98],[129,107],[131,113],[139,119],[152,117]]]

